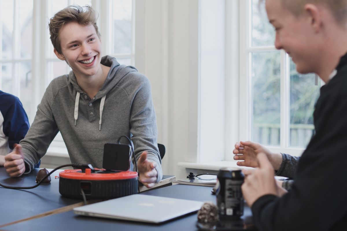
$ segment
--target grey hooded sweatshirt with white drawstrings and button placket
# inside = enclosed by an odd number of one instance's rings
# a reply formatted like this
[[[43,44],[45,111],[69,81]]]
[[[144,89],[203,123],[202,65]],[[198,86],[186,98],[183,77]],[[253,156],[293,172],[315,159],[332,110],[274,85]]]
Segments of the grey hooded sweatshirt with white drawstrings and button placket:
[[[34,122],[20,142],[26,172],[44,156],[60,131],[71,163],[90,163],[96,168],[102,168],[105,143],[116,143],[122,135],[132,136],[136,160],[143,151],[148,151],[147,159],[156,162],[157,181],[161,180],[149,80],[133,66],[119,65],[111,56],[102,57],[101,64],[111,69],[92,99],[78,86],[73,71],[49,84]],[[121,143],[128,141],[122,138]]]

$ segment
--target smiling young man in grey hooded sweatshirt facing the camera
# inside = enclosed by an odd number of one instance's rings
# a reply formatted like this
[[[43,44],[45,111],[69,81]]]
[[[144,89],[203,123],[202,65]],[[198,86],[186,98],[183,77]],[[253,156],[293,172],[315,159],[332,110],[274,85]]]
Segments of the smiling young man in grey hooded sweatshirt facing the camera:
[[[162,178],[162,168],[148,79],[132,66],[102,57],[96,15],[89,6],[59,11],[49,30],[54,53],[72,71],[47,87],[28,134],[5,157],[6,171],[11,177],[31,171],[58,131],[72,163],[102,168],[104,144],[126,135],[134,144],[139,181],[152,187]]]

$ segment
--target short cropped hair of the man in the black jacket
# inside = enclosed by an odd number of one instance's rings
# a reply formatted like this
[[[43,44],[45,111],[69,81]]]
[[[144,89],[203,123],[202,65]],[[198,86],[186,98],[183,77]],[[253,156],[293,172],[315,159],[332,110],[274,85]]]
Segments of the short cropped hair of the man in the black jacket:
[[[260,0],[262,2],[265,0]],[[338,24],[347,22],[347,0],[279,0],[283,7],[292,12],[296,17],[300,16],[304,6],[308,3],[327,6],[332,12]]]

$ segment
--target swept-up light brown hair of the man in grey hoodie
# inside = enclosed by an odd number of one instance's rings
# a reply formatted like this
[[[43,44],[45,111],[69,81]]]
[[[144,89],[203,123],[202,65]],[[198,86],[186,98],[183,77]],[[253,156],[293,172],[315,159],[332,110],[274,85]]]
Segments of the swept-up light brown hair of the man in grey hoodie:
[[[78,6],[72,5],[68,6],[60,11],[58,11],[49,21],[49,34],[51,42],[54,49],[61,54],[61,45],[59,39],[60,29],[67,23],[75,22],[84,26],[93,25],[98,34],[101,37],[98,26],[96,25],[96,20],[98,15],[96,11],[91,6]]]

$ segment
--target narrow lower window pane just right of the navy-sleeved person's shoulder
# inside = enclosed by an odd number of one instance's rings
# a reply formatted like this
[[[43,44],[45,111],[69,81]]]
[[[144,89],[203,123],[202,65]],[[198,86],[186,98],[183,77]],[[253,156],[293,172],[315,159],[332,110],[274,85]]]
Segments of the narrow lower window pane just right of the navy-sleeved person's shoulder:
[[[31,75],[31,62],[16,63],[15,76],[20,81],[20,101],[22,101],[24,110],[29,117],[29,122],[32,123],[34,118],[31,118],[32,110],[35,108],[32,105],[33,86]]]

